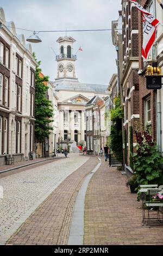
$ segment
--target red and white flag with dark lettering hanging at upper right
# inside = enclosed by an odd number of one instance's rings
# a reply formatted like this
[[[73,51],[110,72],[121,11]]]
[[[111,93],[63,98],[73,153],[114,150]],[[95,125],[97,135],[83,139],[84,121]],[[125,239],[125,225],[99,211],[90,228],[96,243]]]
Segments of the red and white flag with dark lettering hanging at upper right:
[[[142,57],[147,59],[148,53],[155,40],[156,29],[158,28],[159,21],[135,0],[130,0],[130,2],[134,3],[136,8],[139,9],[143,15]]]

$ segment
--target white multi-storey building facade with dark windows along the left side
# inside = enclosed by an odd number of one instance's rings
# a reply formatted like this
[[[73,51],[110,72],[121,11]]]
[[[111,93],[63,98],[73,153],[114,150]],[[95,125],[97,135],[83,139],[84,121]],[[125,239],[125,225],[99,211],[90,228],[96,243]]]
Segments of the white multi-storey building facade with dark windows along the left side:
[[[8,154],[15,162],[34,151],[34,100],[36,61],[24,35],[14,22],[5,21],[0,8],[0,165]]]

